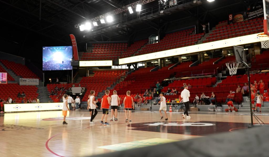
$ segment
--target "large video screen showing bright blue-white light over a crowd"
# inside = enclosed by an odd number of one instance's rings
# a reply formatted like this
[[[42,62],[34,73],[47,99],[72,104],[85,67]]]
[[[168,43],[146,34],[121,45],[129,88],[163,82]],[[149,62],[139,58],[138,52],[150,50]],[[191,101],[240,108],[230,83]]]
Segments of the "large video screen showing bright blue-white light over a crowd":
[[[72,46],[43,47],[43,70],[72,70]]]

